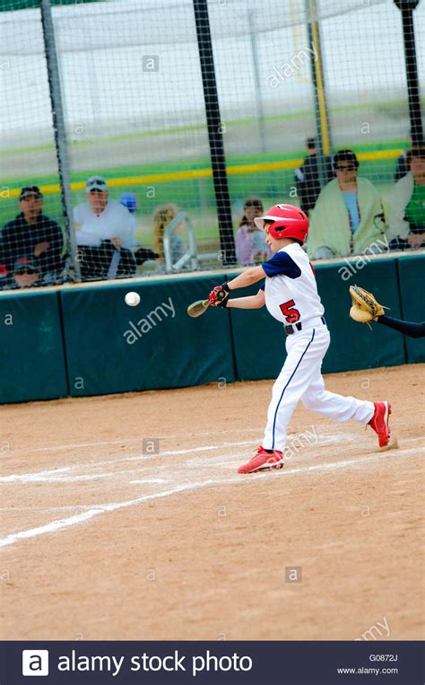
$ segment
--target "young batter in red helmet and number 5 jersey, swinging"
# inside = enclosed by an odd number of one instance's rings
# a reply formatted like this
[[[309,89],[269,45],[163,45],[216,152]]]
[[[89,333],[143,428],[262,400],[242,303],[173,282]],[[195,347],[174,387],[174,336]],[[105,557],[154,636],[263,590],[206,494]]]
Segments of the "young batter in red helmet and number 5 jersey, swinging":
[[[308,234],[307,215],[296,206],[275,205],[255,221],[265,231],[273,257],[229,283],[217,285],[208,295],[212,306],[259,309],[265,305],[282,322],[287,335],[288,356],[273,385],[263,444],[239,473],[282,469],[287,426],[299,400],[304,407],[341,423],[353,419],[369,424],[377,433],[379,446],[384,447],[390,435],[388,402],[356,400],[325,390],[321,366],[330,335],[314,271],[301,247]],[[256,295],[229,299],[231,291],[263,278],[265,285]]]

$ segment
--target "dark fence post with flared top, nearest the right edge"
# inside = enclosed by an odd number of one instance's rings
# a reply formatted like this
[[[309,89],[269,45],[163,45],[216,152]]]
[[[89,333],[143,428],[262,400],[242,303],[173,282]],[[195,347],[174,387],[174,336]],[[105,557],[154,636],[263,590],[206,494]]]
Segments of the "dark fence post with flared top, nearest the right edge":
[[[423,143],[423,127],[418,63],[416,59],[416,41],[413,25],[413,10],[418,6],[419,0],[395,0],[395,4],[402,13],[404,59],[406,64],[407,96],[409,99],[412,144],[421,145]]]

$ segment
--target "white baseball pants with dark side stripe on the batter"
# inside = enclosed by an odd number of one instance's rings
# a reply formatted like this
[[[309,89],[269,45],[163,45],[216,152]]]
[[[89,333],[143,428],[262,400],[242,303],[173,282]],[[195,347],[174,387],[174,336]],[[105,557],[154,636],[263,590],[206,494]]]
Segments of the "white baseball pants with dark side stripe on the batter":
[[[341,423],[352,418],[368,424],[373,417],[372,402],[325,390],[321,367],[331,337],[320,319],[314,321],[319,321],[317,327],[303,328],[286,338],[288,356],[273,384],[263,442],[265,450],[283,452],[287,427],[299,400],[304,407]]]

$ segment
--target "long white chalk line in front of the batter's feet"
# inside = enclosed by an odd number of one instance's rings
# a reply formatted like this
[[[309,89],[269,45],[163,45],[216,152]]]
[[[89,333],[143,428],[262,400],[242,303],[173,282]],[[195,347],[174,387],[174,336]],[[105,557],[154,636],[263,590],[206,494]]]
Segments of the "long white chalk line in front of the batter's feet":
[[[68,518],[65,519],[59,519],[57,521],[52,521],[51,523],[46,523],[45,525],[39,526],[37,528],[30,528],[27,531],[20,531],[18,533],[12,533],[10,535],[7,535],[5,538],[0,540],[0,547],[8,547],[10,545],[13,545],[15,542],[18,542],[19,540],[26,540],[29,538],[33,538],[39,535],[44,535],[47,533],[51,532],[56,532],[63,530],[65,528],[69,528],[70,526],[77,525],[78,523],[83,523],[85,521],[88,521],[89,519],[98,516],[100,514],[105,514],[109,512],[114,512],[119,509],[125,509],[129,506],[134,506],[134,505],[140,505],[143,504],[143,502],[146,502],[148,500],[152,499],[160,499],[161,497],[167,497],[167,496],[172,496],[176,495],[178,493],[187,491],[187,490],[194,490],[197,488],[201,487],[211,487],[214,485],[230,485],[230,484],[242,484],[245,479],[249,479],[248,482],[254,482],[251,479],[260,479],[260,478],[265,478],[265,477],[270,477],[271,475],[273,476],[278,476],[280,477],[281,474],[284,474],[286,478],[291,476],[291,474],[294,473],[311,473],[313,471],[328,471],[328,470],[334,470],[334,469],[343,469],[347,467],[359,467],[362,466],[363,464],[370,463],[371,461],[376,461],[380,459],[391,459],[391,458],[398,458],[401,459],[403,456],[406,456],[406,454],[413,454],[413,453],[418,453],[421,452],[421,448],[413,448],[411,450],[406,450],[405,452],[401,450],[394,450],[394,451],[386,451],[386,452],[377,452],[376,454],[373,454],[369,457],[363,457],[358,460],[349,460],[349,461],[334,461],[331,463],[327,464],[315,464],[313,466],[304,466],[304,467],[299,467],[298,469],[283,469],[279,471],[274,471],[273,474],[269,472],[265,473],[258,473],[255,474],[255,476],[238,476],[237,478],[232,478],[232,479],[221,479],[221,480],[204,480],[202,482],[197,482],[197,483],[186,483],[185,485],[181,485],[178,487],[173,487],[169,490],[164,490],[162,492],[157,492],[153,493],[151,495],[143,495],[140,497],[136,497],[134,499],[126,500],[124,502],[117,502],[117,503],[110,503],[108,505],[98,505],[95,506],[94,508],[89,509],[86,512],[83,512],[82,514],[74,514],[73,516],[69,516]],[[224,456],[224,455],[222,455]]]

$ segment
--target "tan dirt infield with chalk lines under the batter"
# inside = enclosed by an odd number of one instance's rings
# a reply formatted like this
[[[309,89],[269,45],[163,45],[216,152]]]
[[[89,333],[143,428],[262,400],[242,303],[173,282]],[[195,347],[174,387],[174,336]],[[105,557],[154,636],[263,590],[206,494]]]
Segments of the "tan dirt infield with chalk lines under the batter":
[[[251,476],[269,381],[2,408],[1,638],[422,638],[423,372],[326,378],[398,447],[299,406]]]

